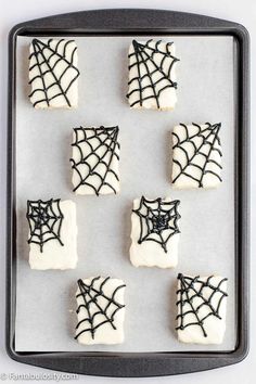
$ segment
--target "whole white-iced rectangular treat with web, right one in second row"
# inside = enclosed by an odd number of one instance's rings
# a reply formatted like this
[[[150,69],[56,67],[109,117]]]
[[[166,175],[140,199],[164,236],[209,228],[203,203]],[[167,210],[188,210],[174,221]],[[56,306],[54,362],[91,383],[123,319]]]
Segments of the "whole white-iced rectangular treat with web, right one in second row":
[[[180,124],[172,131],[172,185],[216,188],[221,180],[221,124]]]

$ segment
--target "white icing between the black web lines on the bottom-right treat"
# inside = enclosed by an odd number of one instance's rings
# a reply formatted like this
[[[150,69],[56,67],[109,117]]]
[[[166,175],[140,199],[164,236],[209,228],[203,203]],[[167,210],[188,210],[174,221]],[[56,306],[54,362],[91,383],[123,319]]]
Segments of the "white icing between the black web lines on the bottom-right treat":
[[[208,277],[200,278],[201,281],[206,281]],[[219,282],[222,280],[222,277],[215,276],[210,279],[210,284],[214,286],[218,286]],[[195,289],[197,290],[201,285],[195,283]],[[178,280],[178,290],[180,289],[180,281]],[[221,283],[221,290],[227,292],[227,281]],[[203,297],[207,300],[213,294],[213,290],[203,289],[202,291]],[[191,290],[189,296],[194,295],[194,291]],[[221,297],[221,293],[215,293],[210,299],[210,303],[214,308],[218,306],[219,298]],[[180,296],[178,294],[178,300]],[[196,307],[202,304],[202,299],[200,297],[193,298],[193,306]],[[207,337],[204,336],[201,327],[199,325],[189,325],[183,330],[178,330],[178,340],[182,343],[194,343],[194,344],[221,344],[225,336],[226,331],[226,306],[227,306],[227,297],[223,297],[219,307],[219,316],[221,319],[218,319],[215,316],[209,316],[204,320],[203,327],[207,334]],[[180,313],[180,307],[178,306],[178,313]],[[182,311],[185,312],[191,310],[191,307],[188,303],[184,303],[182,307]],[[197,312],[197,316],[202,319],[209,312],[209,308],[207,306],[202,306]],[[193,313],[188,313],[184,317],[184,324],[196,322],[196,318]],[[178,325],[180,324],[180,320],[178,320]]]

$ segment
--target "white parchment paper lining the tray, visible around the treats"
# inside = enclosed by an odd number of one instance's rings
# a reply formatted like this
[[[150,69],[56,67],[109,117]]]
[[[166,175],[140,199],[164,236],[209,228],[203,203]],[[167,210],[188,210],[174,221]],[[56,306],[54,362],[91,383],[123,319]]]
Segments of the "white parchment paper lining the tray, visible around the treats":
[[[16,48],[17,293],[18,351],[232,350],[234,304],[234,40],[232,37],[164,37],[181,60],[174,112],[132,111],[127,91],[127,52],[133,37],[76,37],[81,76],[79,107],[36,111],[28,101],[29,37]],[[146,39],[148,37],[145,37]],[[150,36],[149,38],[152,38]],[[159,38],[159,37],[157,37]],[[139,38],[141,39],[141,38]],[[178,123],[222,123],[223,183],[217,190],[177,191],[170,185],[170,131]],[[121,193],[76,196],[71,183],[72,128],[118,125]],[[129,261],[132,200],[167,196],[181,201],[179,265],[135,268]],[[72,199],[77,204],[77,269],[33,271],[28,265],[26,201]],[[177,341],[178,272],[229,279],[227,332],[221,346]],[[126,341],[80,346],[74,340],[76,281],[90,276],[121,278],[126,284]]]

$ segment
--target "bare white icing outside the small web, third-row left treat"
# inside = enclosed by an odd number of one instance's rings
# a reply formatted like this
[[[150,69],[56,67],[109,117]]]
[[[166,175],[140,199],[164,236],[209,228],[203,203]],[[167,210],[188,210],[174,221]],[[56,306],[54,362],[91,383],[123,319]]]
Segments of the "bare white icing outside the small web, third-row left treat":
[[[72,201],[61,201],[64,216],[61,227],[63,246],[55,239],[43,244],[42,253],[38,244],[30,243],[29,265],[31,269],[74,269],[77,265],[76,205]]]

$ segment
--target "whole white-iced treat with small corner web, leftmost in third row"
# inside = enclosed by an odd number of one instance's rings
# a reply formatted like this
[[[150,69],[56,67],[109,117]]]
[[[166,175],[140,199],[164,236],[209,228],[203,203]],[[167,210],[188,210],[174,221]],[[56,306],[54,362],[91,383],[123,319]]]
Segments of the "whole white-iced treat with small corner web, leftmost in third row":
[[[72,201],[27,202],[31,269],[74,269],[77,265],[76,205]]]

